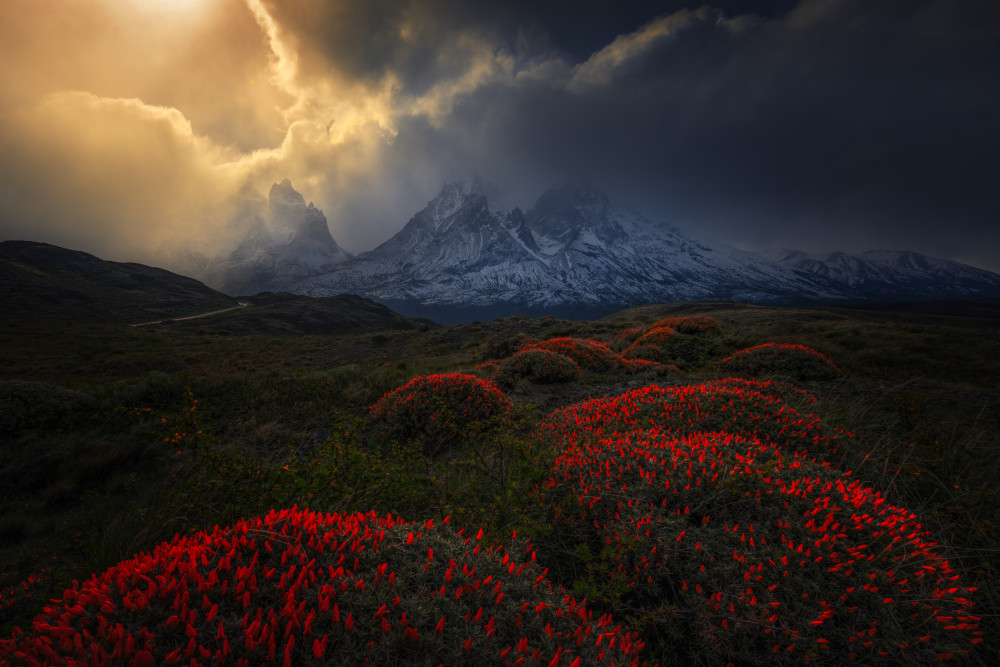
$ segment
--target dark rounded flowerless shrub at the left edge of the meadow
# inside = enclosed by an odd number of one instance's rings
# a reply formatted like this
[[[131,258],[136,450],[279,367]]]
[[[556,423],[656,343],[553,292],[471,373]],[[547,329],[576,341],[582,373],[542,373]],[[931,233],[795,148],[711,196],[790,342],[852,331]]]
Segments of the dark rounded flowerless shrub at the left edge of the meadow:
[[[92,396],[45,382],[0,381],[0,433],[66,426],[93,410]]]

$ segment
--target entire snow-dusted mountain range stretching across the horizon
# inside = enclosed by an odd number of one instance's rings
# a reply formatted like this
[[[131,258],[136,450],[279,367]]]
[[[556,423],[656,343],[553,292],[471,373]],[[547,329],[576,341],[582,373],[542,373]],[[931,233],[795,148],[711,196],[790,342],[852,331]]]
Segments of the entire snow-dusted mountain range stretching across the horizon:
[[[645,303],[724,299],[858,303],[1000,294],[1000,275],[909,251],[753,253],[615,206],[584,184],[527,212],[446,183],[393,237],[352,256],[288,180],[202,278],[229,294],[354,293],[441,322],[520,314],[592,317]]]

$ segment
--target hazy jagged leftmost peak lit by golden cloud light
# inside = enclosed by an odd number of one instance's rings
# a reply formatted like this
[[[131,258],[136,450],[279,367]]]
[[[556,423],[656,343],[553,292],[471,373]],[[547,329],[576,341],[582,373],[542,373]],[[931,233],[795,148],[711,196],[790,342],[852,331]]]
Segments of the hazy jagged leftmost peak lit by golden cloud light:
[[[281,290],[352,257],[330,235],[323,212],[306,205],[287,178],[271,186],[266,209],[249,202],[237,222],[240,244],[199,276],[227,294]]]

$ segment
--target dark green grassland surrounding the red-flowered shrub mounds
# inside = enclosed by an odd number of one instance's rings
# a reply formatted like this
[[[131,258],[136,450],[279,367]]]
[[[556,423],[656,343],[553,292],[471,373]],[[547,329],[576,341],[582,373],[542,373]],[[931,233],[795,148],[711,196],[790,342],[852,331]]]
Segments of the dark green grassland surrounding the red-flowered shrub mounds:
[[[379,444],[366,429],[368,406],[416,375],[469,370],[557,336],[612,344],[625,328],[685,314],[709,315],[720,328],[678,337],[680,378],[591,373],[567,384],[522,382],[510,394],[517,415],[506,429],[440,461]],[[820,399],[809,409],[857,434],[864,455],[845,464],[918,513],[965,583],[980,587],[987,641],[972,663],[995,664],[998,323],[981,314],[727,303],[648,306],[596,322],[501,318],[337,336],[7,322],[0,382],[48,383],[80,400],[67,414],[39,413],[0,441],[0,590],[47,574],[31,603],[0,609],[0,629],[26,623],[72,579],[174,533],[296,502],[412,520],[451,515],[497,536],[516,529],[544,538],[527,494],[554,455],[529,451],[541,417],[589,396],[716,377],[714,362],[727,354],[789,342],[843,370],[837,380],[801,383]],[[193,421],[188,391],[197,400]]]

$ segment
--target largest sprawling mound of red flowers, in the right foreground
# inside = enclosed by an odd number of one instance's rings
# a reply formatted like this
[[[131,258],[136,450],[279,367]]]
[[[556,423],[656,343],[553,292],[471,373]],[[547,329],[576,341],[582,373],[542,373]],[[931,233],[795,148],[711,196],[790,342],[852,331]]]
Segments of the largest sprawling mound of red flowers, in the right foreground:
[[[536,497],[557,525],[607,546],[591,569],[637,617],[687,619],[667,641],[698,655],[968,653],[982,641],[975,589],[914,514],[829,462],[850,435],[788,407],[784,391],[727,379],[557,411],[541,437],[562,453]]]

